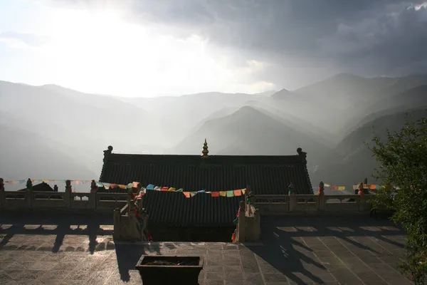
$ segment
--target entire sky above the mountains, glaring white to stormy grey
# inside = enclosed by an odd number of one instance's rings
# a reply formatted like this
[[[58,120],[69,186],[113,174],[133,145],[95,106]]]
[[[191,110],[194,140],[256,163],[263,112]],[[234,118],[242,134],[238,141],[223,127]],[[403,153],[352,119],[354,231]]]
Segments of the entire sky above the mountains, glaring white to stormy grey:
[[[427,1],[1,0],[0,81],[155,97],[427,73]]]

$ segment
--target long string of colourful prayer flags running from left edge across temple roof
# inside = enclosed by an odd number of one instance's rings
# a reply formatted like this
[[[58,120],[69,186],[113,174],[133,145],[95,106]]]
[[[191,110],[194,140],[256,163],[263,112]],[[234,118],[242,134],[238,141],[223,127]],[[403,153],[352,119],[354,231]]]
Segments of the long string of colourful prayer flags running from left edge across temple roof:
[[[31,182],[34,184],[38,183],[48,183],[48,182],[63,182],[65,183],[67,180],[31,180]],[[18,183],[26,183],[26,180],[6,180],[4,181],[7,184],[18,184]],[[70,182],[73,182],[75,185],[80,184],[90,184],[92,183],[92,180],[70,180]],[[96,182],[97,187],[104,187],[105,189],[108,188],[115,188],[119,187],[120,189],[132,189],[132,187],[137,188],[139,185],[139,182],[132,182],[128,185],[120,185],[120,184],[114,184],[114,183],[105,183],[105,182]],[[246,195],[246,188],[238,189],[238,190],[228,190],[228,191],[206,191],[206,190],[199,190],[199,191],[184,191],[181,189],[176,189],[174,187],[160,187],[160,186],[154,186],[152,184],[147,185],[147,187],[142,187],[142,192],[146,193],[147,190],[153,190],[153,191],[163,191],[163,192],[181,192],[184,194],[186,198],[194,197],[194,195],[199,193],[205,193],[211,195],[211,197],[238,197],[241,195]]]

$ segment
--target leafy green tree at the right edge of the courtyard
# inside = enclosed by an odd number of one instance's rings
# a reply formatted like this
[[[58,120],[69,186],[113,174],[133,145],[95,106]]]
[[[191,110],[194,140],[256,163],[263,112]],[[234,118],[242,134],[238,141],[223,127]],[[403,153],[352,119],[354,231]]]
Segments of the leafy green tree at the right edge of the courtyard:
[[[391,220],[408,237],[401,269],[415,284],[427,284],[427,120],[407,116],[401,130],[372,142],[369,150],[381,165],[372,176],[383,187],[371,202],[394,211]]]

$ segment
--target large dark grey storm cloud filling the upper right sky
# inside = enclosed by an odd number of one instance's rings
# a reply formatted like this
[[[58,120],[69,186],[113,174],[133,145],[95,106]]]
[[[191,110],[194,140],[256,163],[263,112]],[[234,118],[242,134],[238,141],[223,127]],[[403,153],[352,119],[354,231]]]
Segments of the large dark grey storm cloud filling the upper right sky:
[[[331,73],[427,73],[425,0],[61,0],[119,9],[159,33],[198,35],[235,58],[265,63],[251,76],[283,87]],[[290,79],[292,78],[292,80]],[[255,81],[253,81],[255,82]]]

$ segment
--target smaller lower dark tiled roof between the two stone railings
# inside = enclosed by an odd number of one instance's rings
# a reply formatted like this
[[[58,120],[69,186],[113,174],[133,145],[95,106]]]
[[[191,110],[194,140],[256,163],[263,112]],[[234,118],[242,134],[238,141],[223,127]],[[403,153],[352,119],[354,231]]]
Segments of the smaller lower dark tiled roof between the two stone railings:
[[[149,224],[170,227],[233,226],[241,197],[211,197],[199,193],[186,198],[181,192],[147,190],[143,205]]]

